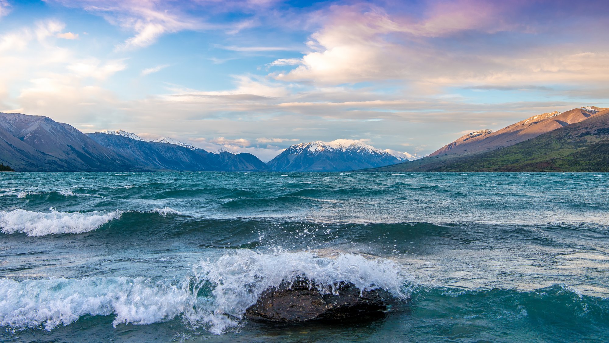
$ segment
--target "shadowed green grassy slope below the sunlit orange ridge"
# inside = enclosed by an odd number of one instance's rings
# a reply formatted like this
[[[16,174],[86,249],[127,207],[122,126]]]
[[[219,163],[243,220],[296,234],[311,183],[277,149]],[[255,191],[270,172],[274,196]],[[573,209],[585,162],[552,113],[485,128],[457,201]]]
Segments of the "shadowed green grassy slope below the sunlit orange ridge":
[[[425,157],[367,171],[609,171],[607,128],[604,114],[488,153]]]

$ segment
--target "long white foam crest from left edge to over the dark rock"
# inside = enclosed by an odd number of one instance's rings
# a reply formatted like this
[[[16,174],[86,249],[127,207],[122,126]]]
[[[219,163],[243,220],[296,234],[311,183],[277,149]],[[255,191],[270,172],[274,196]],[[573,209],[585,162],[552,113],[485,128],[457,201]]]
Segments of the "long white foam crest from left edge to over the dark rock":
[[[324,292],[338,282],[384,288],[406,297],[406,275],[392,261],[359,255],[319,258],[311,253],[256,253],[241,249],[196,265],[181,280],[93,277],[0,280],[0,326],[52,330],[80,317],[116,316],[119,323],[149,324],[181,317],[192,327],[221,334],[235,327],[262,291],[306,276]],[[205,292],[200,292],[206,289]],[[211,291],[211,292],[209,292]],[[334,290],[336,291],[336,290]],[[206,295],[202,295],[206,294]]]

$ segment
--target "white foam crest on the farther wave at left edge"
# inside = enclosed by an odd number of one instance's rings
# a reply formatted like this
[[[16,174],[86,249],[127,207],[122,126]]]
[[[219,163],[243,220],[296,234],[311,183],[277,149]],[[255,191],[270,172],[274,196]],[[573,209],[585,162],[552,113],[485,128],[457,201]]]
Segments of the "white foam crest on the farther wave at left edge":
[[[2,233],[26,233],[27,236],[46,236],[60,233],[85,233],[99,228],[113,219],[121,218],[122,211],[113,212],[30,212],[23,209],[0,211]]]

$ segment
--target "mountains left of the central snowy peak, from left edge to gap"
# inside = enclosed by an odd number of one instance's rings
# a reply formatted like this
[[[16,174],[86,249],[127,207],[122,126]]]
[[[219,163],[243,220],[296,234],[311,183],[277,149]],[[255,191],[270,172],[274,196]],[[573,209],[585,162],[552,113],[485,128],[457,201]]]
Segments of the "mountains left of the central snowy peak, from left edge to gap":
[[[212,154],[124,130],[83,134],[40,115],[0,113],[0,163],[18,171],[268,171],[252,154]]]

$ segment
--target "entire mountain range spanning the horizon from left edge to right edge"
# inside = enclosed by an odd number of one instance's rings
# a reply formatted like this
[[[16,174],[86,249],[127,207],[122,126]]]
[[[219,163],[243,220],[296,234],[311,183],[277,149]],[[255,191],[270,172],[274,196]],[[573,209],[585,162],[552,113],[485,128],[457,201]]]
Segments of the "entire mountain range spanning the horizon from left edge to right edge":
[[[609,109],[554,111],[473,131],[420,159],[339,139],[292,145],[267,164],[171,137],[83,134],[48,117],[0,113],[0,164],[18,171],[609,171]]]

